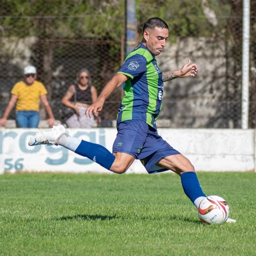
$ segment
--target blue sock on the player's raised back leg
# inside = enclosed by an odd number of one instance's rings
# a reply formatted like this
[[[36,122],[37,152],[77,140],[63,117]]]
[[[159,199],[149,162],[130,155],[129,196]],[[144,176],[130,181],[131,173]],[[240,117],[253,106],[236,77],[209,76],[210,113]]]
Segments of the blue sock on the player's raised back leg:
[[[95,143],[91,143],[82,140],[79,146],[76,148],[76,154],[80,156],[86,156],[92,161],[100,164],[106,169],[110,169],[111,165],[114,163],[115,156],[112,155],[107,148]]]

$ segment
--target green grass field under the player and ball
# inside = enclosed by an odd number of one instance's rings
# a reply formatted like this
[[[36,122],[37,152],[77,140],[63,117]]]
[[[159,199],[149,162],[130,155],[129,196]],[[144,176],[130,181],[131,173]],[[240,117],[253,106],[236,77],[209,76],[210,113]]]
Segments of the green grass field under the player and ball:
[[[237,223],[204,225],[166,174],[4,174],[0,255],[256,255],[256,173],[198,173]]]

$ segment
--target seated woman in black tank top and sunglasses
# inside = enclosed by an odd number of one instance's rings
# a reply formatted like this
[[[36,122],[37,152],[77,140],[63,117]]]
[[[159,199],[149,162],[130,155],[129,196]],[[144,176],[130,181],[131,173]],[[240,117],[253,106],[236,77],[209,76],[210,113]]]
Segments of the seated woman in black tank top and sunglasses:
[[[92,85],[92,79],[86,68],[81,69],[76,76],[76,84],[71,84],[61,102],[68,108],[73,108],[76,113],[65,119],[64,123],[70,128],[91,128],[94,124],[94,117],[85,116],[86,109],[95,102],[98,94]],[[97,118],[100,123],[100,118]]]

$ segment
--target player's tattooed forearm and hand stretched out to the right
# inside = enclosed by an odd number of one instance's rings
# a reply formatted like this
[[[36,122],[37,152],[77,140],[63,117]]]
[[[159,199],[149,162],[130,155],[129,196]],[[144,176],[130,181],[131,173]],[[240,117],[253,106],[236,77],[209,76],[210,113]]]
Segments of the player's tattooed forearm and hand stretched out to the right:
[[[197,71],[197,65],[195,63],[190,64],[190,60],[188,60],[179,70],[163,72],[163,81],[166,82],[179,77],[195,76]]]

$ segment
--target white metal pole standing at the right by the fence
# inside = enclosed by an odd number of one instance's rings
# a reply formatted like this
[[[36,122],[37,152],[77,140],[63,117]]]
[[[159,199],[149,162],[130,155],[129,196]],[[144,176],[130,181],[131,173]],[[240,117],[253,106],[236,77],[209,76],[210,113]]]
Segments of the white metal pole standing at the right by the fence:
[[[249,59],[250,59],[250,0],[243,3],[243,63],[242,63],[242,129],[248,129],[249,118]]]

